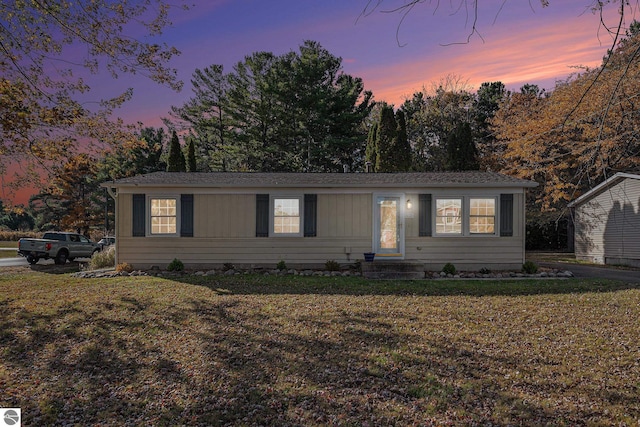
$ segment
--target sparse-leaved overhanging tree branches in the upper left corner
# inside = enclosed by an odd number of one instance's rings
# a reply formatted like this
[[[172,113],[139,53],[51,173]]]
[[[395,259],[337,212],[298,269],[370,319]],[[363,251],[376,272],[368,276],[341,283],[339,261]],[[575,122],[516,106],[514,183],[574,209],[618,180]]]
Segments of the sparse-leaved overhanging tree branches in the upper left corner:
[[[176,71],[166,66],[178,51],[153,40],[169,24],[169,9],[165,0],[3,3],[0,169],[22,162],[40,180],[60,159],[134,139],[110,119],[132,90],[87,103],[91,88],[81,76],[106,69],[112,78],[136,73],[179,89]],[[134,26],[144,30],[140,38],[125,33]]]

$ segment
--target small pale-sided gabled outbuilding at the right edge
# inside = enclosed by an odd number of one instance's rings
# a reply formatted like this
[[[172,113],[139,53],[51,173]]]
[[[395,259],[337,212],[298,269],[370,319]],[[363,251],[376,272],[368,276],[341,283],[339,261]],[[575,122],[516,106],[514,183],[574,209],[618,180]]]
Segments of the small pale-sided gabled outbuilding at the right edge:
[[[568,206],[576,259],[640,267],[640,175],[617,173]]]

